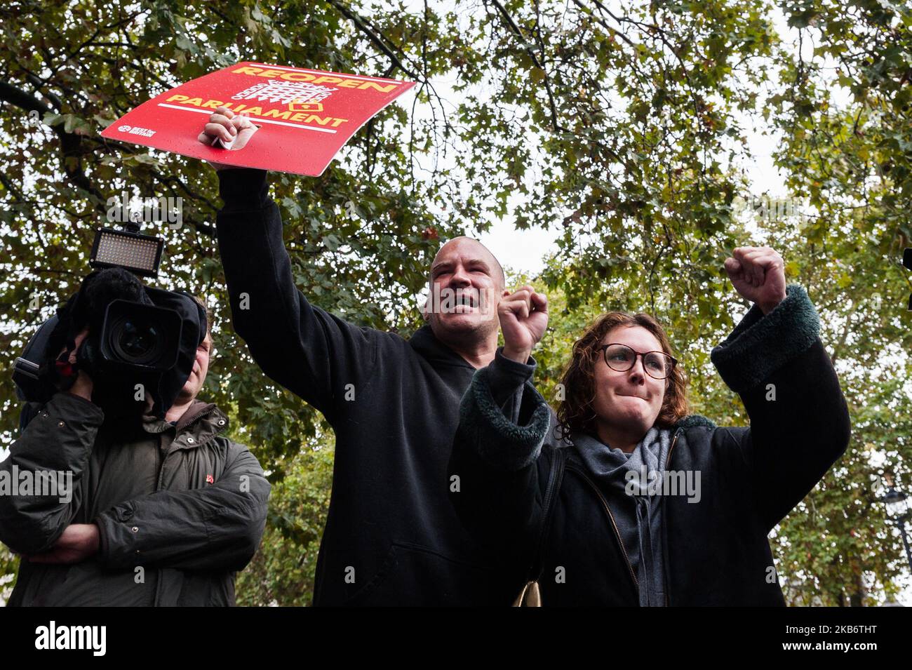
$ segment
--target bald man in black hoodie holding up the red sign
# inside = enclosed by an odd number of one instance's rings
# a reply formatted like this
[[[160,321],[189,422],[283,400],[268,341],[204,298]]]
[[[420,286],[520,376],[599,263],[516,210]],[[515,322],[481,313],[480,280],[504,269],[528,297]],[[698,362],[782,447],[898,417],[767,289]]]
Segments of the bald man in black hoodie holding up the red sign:
[[[255,130],[220,108],[199,139],[241,149]],[[497,352],[497,304],[510,294],[500,263],[481,242],[451,240],[430,266],[427,324],[409,340],[349,324],[295,287],[266,173],[213,167],[234,329],[336,431],[314,604],[510,604],[516,585],[462,528],[447,476],[462,394]]]

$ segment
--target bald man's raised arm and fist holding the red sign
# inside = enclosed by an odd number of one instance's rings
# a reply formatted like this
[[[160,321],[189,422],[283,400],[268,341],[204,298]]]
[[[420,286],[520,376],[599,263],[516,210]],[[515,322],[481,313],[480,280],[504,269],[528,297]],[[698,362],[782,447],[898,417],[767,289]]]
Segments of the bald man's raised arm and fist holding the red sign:
[[[250,121],[224,112],[212,115],[200,139],[234,139],[233,149],[241,149],[254,134]],[[233,135],[226,130],[232,125]],[[297,290],[266,172],[213,165],[224,201],[217,230],[234,330],[267,376],[332,420],[347,384],[370,375],[378,333],[309,304]]]

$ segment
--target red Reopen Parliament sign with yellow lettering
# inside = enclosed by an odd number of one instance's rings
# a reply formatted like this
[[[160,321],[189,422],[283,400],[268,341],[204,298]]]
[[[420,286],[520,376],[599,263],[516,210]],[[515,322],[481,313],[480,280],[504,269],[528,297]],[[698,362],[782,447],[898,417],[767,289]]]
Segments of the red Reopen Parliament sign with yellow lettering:
[[[356,130],[414,85],[244,62],[171,88],[101,136],[228,165],[317,176]],[[259,126],[243,149],[208,147],[197,139],[217,107]]]

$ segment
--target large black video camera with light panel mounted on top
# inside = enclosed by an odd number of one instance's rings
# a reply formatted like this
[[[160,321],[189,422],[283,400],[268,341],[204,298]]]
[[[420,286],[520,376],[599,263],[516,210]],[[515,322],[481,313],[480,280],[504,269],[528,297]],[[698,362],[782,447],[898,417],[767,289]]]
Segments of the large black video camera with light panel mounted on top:
[[[95,269],[16,358],[16,395],[26,402],[21,428],[58,390],[72,387],[79,369],[91,376],[92,402],[106,420],[140,417],[149,408],[147,393],[151,413],[164,417],[190,377],[207,325],[191,294],[140,281],[140,275],[158,275],[163,247],[161,238],[140,234],[132,222],[124,231],[98,229],[89,260]],[[76,338],[87,327],[70,366]]]

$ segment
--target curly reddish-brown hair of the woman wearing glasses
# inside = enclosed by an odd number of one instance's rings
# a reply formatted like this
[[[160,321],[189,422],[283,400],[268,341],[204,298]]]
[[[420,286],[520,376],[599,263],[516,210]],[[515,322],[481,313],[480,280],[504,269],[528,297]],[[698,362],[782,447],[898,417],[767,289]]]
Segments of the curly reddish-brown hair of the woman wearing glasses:
[[[566,366],[561,384],[565,398],[557,407],[557,425],[561,438],[569,439],[573,431],[596,435],[596,364],[603,356],[598,347],[611,330],[619,325],[639,325],[656,336],[668,356],[671,345],[665,330],[649,314],[627,314],[627,312],[608,312],[599,316],[573,345],[573,357]],[[665,397],[662,408],[656,418],[659,428],[671,428],[689,413],[687,400],[687,379],[679,366],[674,366],[671,376],[666,379]]]

